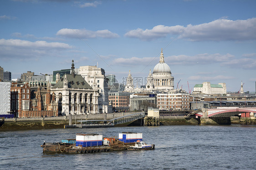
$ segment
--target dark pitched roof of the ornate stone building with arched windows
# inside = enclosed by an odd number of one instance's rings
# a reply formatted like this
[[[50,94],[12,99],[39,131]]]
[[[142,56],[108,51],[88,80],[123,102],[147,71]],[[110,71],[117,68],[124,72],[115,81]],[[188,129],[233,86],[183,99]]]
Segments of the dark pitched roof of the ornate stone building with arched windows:
[[[75,74],[75,77],[73,77],[72,74],[66,74],[66,75],[67,75],[68,88],[92,89],[92,87],[84,80],[84,78],[81,75]],[[65,75],[62,76],[61,79],[52,88],[63,88],[64,77]]]

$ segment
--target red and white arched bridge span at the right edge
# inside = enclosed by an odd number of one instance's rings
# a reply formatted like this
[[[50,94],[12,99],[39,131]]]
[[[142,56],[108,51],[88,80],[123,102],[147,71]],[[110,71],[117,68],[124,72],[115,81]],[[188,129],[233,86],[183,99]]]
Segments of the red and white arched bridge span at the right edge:
[[[246,112],[256,113],[256,107],[218,107],[198,110],[192,115],[200,117],[232,117]]]

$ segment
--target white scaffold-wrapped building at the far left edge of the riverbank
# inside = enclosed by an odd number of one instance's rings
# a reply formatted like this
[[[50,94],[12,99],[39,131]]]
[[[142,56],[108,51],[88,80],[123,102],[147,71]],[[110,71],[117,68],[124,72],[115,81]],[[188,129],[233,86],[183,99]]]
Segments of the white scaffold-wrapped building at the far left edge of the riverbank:
[[[10,114],[10,82],[0,82],[0,115]]]

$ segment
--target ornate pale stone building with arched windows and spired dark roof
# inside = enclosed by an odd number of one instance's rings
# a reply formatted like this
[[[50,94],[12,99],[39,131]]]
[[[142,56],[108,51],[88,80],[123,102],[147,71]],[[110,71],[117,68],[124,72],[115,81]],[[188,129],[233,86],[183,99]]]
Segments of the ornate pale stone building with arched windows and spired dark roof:
[[[92,88],[81,75],[75,74],[74,70],[72,60],[72,73],[65,74],[51,87],[51,95],[56,97],[55,101],[58,102],[59,114],[98,113],[99,93],[95,81],[92,83],[94,87]]]

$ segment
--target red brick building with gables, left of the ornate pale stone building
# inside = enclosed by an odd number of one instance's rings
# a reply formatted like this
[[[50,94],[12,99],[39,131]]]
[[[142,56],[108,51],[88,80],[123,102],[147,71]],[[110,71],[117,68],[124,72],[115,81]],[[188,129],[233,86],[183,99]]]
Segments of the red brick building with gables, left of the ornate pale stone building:
[[[58,116],[58,107],[55,105],[49,83],[47,87],[30,87],[28,83],[11,85],[11,110],[15,117]]]

